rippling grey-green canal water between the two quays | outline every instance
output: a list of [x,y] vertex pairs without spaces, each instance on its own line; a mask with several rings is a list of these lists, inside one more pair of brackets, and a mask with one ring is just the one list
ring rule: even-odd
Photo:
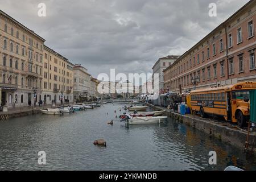
[[[122,106],[0,121],[0,169],[224,170],[233,165],[256,170],[256,160],[242,150],[171,118],[127,127],[115,118]],[[112,119],[113,126],[108,125]],[[94,146],[99,138],[106,147]],[[46,165],[38,164],[39,151],[46,152]],[[209,165],[209,151],[217,152],[217,165]]]

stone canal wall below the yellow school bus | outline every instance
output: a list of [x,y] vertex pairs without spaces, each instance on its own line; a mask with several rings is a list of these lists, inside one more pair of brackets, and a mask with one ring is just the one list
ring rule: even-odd
[[[154,106],[147,104],[154,110],[163,110],[163,107]],[[166,110],[166,109],[165,109]],[[216,122],[211,119],[201,118],[196,115],[186,114],[181,115],[179,113],[174,113],[171,110],[166,110],[166,115],[171,118],[176,119],[176,121],[183,122],[189,127],[193,127],[197,130],[204,131],[209,134],[209,137],[215,137],[222,140],[223,142],[232,144],[233,146],[244,149],[247,140],[247,131],[240,129],[238,126],[231,125],[230,123]],[[256,152],[256,133],[250,132],[249,135],[250,148]]]

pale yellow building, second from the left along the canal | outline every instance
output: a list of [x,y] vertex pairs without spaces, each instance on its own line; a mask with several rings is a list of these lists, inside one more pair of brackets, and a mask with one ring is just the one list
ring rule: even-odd
[[74,65],[47,46],[44,46],[43,60],[43,103],[72,103]]

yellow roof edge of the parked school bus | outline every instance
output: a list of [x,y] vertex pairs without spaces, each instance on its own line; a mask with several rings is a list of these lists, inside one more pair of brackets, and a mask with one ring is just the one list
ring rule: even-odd
[[207,88],[207,89],[198,89],[198,90],[192,90],[191,94],[193,93],[198,93],[198,92],[214,92],[214,91],[219,91],[219,90],[240,90],[240,89],[236,89],[236,86],[238,85],[251,85],[250,87],[243,87],[241,88],[241,90],[243,89],[256,89],[256,82],[238,82],[237,84],[233,84],[233,85],[225,85],[225,86],[219,86],[219,87],[213,87],[213,88]]

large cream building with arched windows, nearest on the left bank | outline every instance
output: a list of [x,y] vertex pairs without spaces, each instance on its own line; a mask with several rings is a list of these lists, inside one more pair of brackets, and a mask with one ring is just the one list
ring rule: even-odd
[[45,40],[0,10],[0,104],[38,104]]

